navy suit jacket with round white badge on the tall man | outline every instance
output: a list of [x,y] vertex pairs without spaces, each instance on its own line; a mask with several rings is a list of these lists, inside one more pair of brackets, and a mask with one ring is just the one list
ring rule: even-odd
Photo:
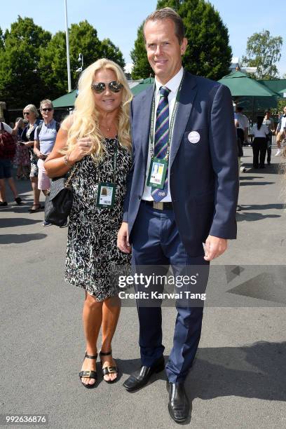
[[[144,190],[154,88],[131,103],[133,165],[123,221],[129,240]],[[197,131],[200,140],[189,142]],[[179,236],[190,256],[203,254],[210,234],[236,238],[238,151],[229,88],[185,71],[170,148],[170,193]]]

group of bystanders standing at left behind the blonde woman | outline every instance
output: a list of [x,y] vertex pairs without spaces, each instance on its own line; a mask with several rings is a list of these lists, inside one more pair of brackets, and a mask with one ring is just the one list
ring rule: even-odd
[[[43,209],[40,203],[41,191],[46,197],[50,189],[50,179],[46,175],[43,162],[53,149],[60,123],[53,118],[53,103],[43,100],[40,104],[42,120],[34,104],[23,109],[23,118],[16,118],[15,126],[1,123],[0,144],[0,207],[8,205],[6,201],[5,180],[13,192],[15,202],[20,205],[16,184],[12,175],[13,165],[17,166],[16,179],[30,179],[33,191],[33,204],[29,212]],[[13,125],[13,124],[11,124]],[[43,226],[50,223],[43,221]]]

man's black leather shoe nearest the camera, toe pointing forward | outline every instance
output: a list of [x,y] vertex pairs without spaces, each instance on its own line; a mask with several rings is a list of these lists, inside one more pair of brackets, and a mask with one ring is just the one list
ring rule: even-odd
[[182,423],[189,416],[190,404],[184,390],[184,383],[169,383],[167,381],[167,390],[169,392],[169,414],[177,423]]

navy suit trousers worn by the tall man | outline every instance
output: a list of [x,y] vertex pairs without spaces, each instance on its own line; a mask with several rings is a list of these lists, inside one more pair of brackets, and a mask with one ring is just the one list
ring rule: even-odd
[[[193,299],[193,295],[205,293],[209,275],[209,262],[198,257],[190,257],[185,250],[175,222],[172,209],[156,210],[143,201],[139,207],[137,219],[132,230],[132,266],[137,273],[153,275],[148,289],[138,286],[137,291],[163,292],[164,285],[156,279],[168,273],[172,268],[173,278],[196,278],[196,285],[180,285],[176,292],[182,292],[184,298],[168,305],[176,306],[177,318],[173,336],[173,346],[166,365],[168,379],[172,383],[184,381],[191,368],[200,341],[203,320],[203,300]],[[170,287],[168,285],[168,287]],[[169,290],[168,290],[169,292]],[[156,301],[156,302],[154,302]],[[162,301],[159,299],[137,300],[139,316],[139,346],[142,365],[152,366],[163,355],[162,343]]]

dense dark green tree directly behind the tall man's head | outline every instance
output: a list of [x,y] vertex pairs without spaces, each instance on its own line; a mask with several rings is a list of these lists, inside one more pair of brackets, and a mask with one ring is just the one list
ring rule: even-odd
[[[157,9],[167,6],[177,11],[184,22],[189,40],[183,57],[185,69],[214,80],[228,74],[232,55],[229,32],[212,4],[204,0],[158,0]],[[135,63],[132,77],[137,79],[149,76],[143,43],[141,26],[131,52]]]

